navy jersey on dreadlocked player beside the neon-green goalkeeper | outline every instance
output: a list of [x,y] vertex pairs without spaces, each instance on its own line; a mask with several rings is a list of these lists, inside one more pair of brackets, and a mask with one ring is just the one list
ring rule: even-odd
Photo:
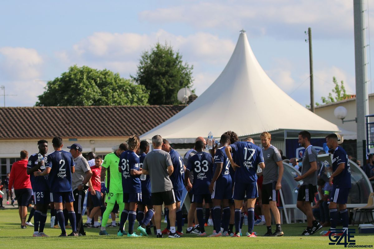
[[123,193],[141,193],[140,176],[134,177],[131,170],[140,169],[139,156],[132,150],[122,152],[119,159],[119,168],[122,169],[122,190]]

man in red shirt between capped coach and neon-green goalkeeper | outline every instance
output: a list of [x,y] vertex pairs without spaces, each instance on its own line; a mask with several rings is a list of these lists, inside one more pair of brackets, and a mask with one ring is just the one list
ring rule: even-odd
[[[100,223],[98,222],[98,217],[101,214],[101,180],[100,180],[100,174],[101,174],[101,164],[102,164],[102,159],[99,156],[96,156],[95,158],[95,165],[91,166],[91,171],[92,171],[92,177],[91,177],[91,184],[92,188],[90,187],[88,189],[89,194],[91,194],[91,200],[93,203],[93,209],[90,212],[89,217],[87,217],[87,222],[84,224],[85,227],[94,227],[94,228],[99,228]],[[92,218],[96,221],[92,225]]]

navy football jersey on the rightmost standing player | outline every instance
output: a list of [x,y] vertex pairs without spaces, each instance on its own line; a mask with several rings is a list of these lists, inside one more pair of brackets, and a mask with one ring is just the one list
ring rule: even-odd
[[339,164],[344,163],[344,169],[337,176],[334,177],[333,183],[337,188],[350,188],[351,187],[351,178],[350,178],[350,165],[348,161],[348,155],[346,151],[338,146],[334,151],[332,156],[332,170],[335,171]]

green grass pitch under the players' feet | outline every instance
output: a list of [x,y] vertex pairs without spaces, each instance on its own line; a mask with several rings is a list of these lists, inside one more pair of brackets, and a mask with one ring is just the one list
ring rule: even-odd
[[[0,248],[344,248],[342,245],[329,245],[328,237],[321,237],[319,231],[318,234],[313,236],[300,236],[299,234],[304,230],[306,224],[283,224],[282,228],[285,233],[285,236],[283,237],[259,236],[257,238],[248,238],[243,236],[240,238],[208,238],[188,234],[184,235],[181,239],[157,239],[154,235],[148,237],[127,238],[117,237],[118,228],[107,228],[108,233],[111,234],[110,236],[99,236],[99,229],[86,228],[87,236],[59,238],[57,236],[61,233],[61,230],[50,228],[49,218],[48,215],[45,233],[51,237],[32,237],[34,231],[33,227],[27,227],[27,229],[20,228],[18,210],[0,210]],[[166,224],[162,223],[162,229],[165,228],[165,226]],[[273,225],[273,229],[274,227],[275,225]],[[356,245],[374,244],[373,234],[358,234],[357,226],[350,226],[349,228],[356,228],[354,238],[356,240]],[[185,230],[186,226],[183,228],[183,231]],[[206,231],[208,234],[211,234],[212,227],[206,227]],[[246,231],[247,227],[243,226],[243,234],[245,234]],[[266,226],[255,226],[254,231],[258,234],[264,234],[266,232]],[[67,232],[70,233],[69,230],[67,230]]]

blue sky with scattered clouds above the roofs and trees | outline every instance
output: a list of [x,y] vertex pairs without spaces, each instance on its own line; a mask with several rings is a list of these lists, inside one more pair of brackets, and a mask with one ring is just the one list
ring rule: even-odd
[[[373,3],[365,1],[371,29]],[[74,64],[128,78],[157,41],[194,65],[199,95],[223,70],[242,28],[269,77],[301,105],[309,102],[308,27],[315,100],[331,91],[332,76],[355,93],[353,1],[1,1],[0,22],[0,85],[17,94],[6,97],[6,106],[33,106],[45,80]]]

